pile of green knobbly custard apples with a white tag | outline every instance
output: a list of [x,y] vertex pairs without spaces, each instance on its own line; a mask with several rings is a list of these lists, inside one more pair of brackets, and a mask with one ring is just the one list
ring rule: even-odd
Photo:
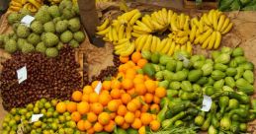
[[55,57],[64,44],[78,47],[85,38],[78,18],[78,5],[73,5],[69,0],[63,0],[59,6],[42,6],[30,27],[21,23],[26,15],[31,13],[14,12],[8,16],[8,23],[12,25],[14,33],[2,34],[0,37],[7,52],[38,51],[48,57]]

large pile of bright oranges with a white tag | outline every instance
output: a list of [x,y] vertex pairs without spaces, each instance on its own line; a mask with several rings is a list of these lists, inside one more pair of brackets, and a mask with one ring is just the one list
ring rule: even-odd
[[75,91],[72,100],[58,102],[56,110],[68,111],[77,128],[87,133],[113,132],[115,127],[137,129],[145,133],[145,126],[152,131],[160,128],[156,116],[160,110],[160,100],[166,90],[158,87],[158,82],[139,70],[147,63],[139,52],[131,57],[120,57],[123,63],[116,77],[102,82],[100,94],[94,89],[100,83],[94,81],[82,91]]

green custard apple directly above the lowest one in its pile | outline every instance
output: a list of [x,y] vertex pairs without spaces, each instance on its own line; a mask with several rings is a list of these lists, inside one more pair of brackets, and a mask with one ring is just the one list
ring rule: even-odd
[[58,36],[54,33],[45,33],[43,35],[43,43],[47,47],[57,45],[58,41],[59,41]]

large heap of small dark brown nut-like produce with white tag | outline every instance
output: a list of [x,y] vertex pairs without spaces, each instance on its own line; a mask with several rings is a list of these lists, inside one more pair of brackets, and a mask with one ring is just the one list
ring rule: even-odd
[[[2,65],[0,91],[6,110],[42,98],[69,100],[74,89],[80,87],[79,65],[71,47],[61,49],[57,58],[18,52]],[[28,79],[18,84],[16,71],[24,66]]]

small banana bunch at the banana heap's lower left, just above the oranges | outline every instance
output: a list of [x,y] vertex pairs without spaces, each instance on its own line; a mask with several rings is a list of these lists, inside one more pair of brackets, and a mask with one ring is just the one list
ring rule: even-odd
[[134,51],[135,44],[134,41],[130,42],[128,38],[123,38],[120,39],[118,42],[114,43],[114,49],[115,54],[121,56],[128,56]]

